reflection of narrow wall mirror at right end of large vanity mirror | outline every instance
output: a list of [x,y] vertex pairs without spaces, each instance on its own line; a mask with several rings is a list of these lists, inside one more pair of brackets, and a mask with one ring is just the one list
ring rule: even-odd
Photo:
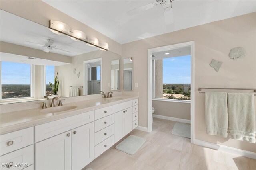
[[119,90],[119,60],[111,61],[111,90]]

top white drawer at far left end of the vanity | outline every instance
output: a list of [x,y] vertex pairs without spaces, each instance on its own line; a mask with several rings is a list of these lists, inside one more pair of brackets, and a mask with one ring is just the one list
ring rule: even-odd
[[33,127],[6,133],[0,136],[0,155],[31,145],[34,140]]

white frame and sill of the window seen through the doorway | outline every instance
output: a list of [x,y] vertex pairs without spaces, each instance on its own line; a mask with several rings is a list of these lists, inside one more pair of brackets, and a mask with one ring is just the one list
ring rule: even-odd
[[[182,57],[182,56],[179,56]],[[169,57],[172,58],[172,57]],[[191,85],[191,82],[190,82]],[[179,100],[179,99],[164,99],[164,98],[155,98],[155,59],[152,59],[152,100],[154,101],[164,101],[164,102],[179,102],[179,103],[191,103],[190,100]]]

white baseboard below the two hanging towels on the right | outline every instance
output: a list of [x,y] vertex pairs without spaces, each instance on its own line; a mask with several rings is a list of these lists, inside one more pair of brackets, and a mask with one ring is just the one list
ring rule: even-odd
[[249,152],[247,150],[227,147],[225,145],[219,145],[219,144],[215,144],[215,143],[201,141],[201,140],[198,140],[198,139],[195,139],[195,144],[203,146],[203,147],[208,147],[208,148],[221,150],[221,151],[224,151],[224,152],[228,152],[228,153],[237,154],[237,155],[240,155],[240,156],[245,156],[245,157],[248,157],[248,158],[256,159],[256,153]]

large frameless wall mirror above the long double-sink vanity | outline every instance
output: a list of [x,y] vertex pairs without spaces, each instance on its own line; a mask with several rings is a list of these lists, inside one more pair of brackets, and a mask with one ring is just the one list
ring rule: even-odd
[[[120,55],[0,10],[0,103],[120,90]],[[110,47],[111,48],[111,47]]]

